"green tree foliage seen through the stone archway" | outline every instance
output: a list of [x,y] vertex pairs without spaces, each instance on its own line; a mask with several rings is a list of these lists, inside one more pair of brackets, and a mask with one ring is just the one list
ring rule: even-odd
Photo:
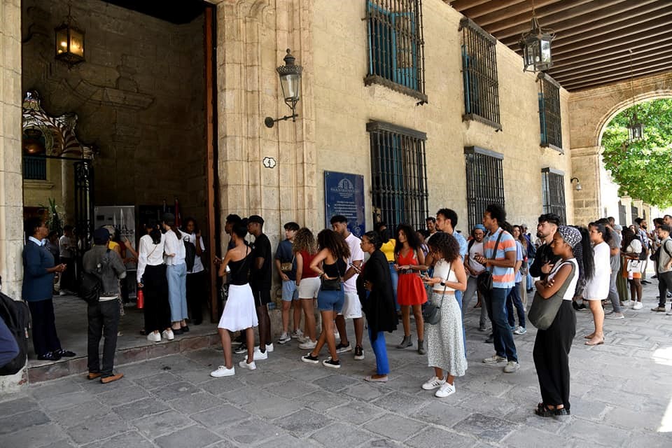
[[[633,111],[644,125],[644,137],[628,142]],[[606,169],[629,195],[657,207],[672,205],[672,99],[637,104],[615,116],[601,142]]]

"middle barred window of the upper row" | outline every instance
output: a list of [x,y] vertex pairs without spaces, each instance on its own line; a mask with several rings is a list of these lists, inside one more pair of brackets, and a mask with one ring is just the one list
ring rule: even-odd
[[501,130],[496,39],[472,20],[460,20],[462,31],[463,120],[476,120]]

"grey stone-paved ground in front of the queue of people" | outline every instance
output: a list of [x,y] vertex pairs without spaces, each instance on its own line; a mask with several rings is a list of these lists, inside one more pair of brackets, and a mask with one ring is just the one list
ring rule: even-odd
[[[125,365],[103,385],[69,377],[0,398],[0,447],[672,447],[672,316],[645,307],[605,321],[605,344],[587,347],[589,311],[577,315],[570,353],[572,415],[542,419],[532,362],[533,328],[516,336],[521,370],[480,361],[493,352],[468,311],[468,360],[457,392],[434,398],[432,371],[416,352],[393,348],[391,381],[362,381],[374,366],[342,356],[331,370],[300,361],[296,342],[275,344],[258,369],[213,379],[221,351],[201,349]],[[237,360],[241,355],[236,356]]]

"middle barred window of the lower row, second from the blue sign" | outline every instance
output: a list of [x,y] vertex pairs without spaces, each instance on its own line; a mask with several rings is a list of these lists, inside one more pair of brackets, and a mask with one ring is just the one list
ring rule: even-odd
[[504,207],[504,156],[478,146],[464,148],[467,167],[467,214],[469,228],[483,220],[488,204]]

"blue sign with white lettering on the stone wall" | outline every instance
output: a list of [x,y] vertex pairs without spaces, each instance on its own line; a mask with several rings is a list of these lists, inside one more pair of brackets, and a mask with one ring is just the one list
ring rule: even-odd
[[331,228],[331,217],[343,215],[348,229],[358,238],[366,231],[364,218],[364,176],[359,174],[324,172],[325,226]]

